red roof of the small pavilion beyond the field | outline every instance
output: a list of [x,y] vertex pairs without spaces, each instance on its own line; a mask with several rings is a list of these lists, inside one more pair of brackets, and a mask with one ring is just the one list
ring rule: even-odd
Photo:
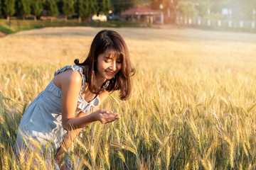
[[147,6],[137,6],[135,8],[131,8],[127,11],[122,12],[121,15],[156,14],[156,13],[159,13],[159,11],[156,11],[152,8],[147,7]]

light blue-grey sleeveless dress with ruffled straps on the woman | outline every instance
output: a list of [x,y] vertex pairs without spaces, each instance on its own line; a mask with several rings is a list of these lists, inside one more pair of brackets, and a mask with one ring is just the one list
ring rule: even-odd
[[[65,66],[55,72],[55,75],[64,72],[66,69],[73,69],[73,71],[78,71],[81,74],[82,87],[78,97],[77,111],[82,111],[88,114],[95,106],[100,105],[100,98],[97,95],[90,101],[90,103],[87,103],[87,101],[82,98],[82,91],[85,90],[85,75],[82,74],[82,67],[77,65]],[[35,148],[35,144],[34,142],[31,142],[31,140],[41,144],[40,153],[43,154],[44,147],[52,140],[46,154],[46,164],[50,166],[50,155],[57,152],[63,138],[67,134],[67,131],[64,130],[62,126],[61,96],[61,89],[55,86],[52,79],[46,89],[38,94],[38,96],[31,102],[23,114],[21,123],[18,126],[14,147],[17,154],[19,154],[21,148],[24,149],[26,146],[29,147],[29,149]],[[24,140],[26,140],[26,142],[24,142]],[[65,162],[67,168],[72,167],[72,165],[68,165],[66,160]],[[54,169],[59,169],[58,164],[55,162]]]

